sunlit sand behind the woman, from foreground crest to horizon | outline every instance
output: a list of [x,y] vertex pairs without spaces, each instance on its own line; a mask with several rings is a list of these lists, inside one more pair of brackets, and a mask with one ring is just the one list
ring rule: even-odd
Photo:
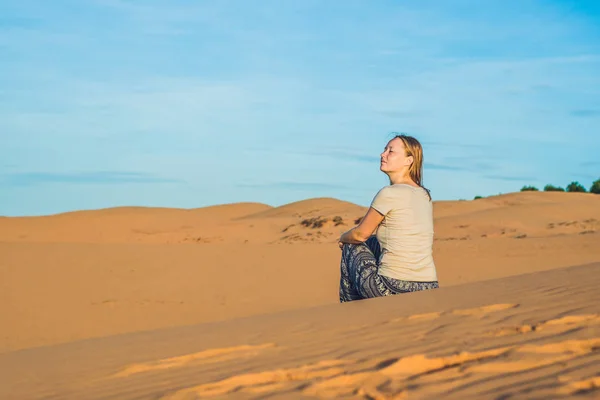
[[[600,261],[599,206],[576,193],[436,202],[440,282]],[[321,198],[4,218],[0,352],[336,303],[335,242],[364,212]]]

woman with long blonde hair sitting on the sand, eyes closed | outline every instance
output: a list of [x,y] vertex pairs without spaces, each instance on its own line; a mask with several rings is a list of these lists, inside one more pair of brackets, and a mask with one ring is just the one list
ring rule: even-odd
[[395,136],[381,153],[380,170],[390,185],[377,192],[361,222],[339,240],[342,303],[439,287],[432,255],[433,208],[421,184],[419,141]]

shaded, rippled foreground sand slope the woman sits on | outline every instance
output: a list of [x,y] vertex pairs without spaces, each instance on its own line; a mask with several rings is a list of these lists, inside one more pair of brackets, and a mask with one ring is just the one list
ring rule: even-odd
[[1,398],[597,398],[600,264],[0,355]]

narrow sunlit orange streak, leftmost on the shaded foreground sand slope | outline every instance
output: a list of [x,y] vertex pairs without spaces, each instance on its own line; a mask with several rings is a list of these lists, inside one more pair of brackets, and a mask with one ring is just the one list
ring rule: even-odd
[[257,346],[236,346],[220,349],[208,349],[198,353],[185,354],[178,357],[164,358],[161,360],[150,361],[147,363],[133,364],[123,368],[120,372],[113,375],[114,378],[125,378],[131,375],[157,371],[171,368],[181,368],[195,363],[216,363],[243,357],[258,355],[261,350],[275,347],[273,343],[266,343]]

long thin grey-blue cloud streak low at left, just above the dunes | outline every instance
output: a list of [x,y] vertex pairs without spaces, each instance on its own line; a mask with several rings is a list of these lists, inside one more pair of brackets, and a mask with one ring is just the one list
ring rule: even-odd
[[136,184],[136,183],[181,183],[179,179],[163,178],[142,172],[98,171],[79,173],[28,172],[0,175],[0,182],[10,186],[29,186],[51,183],[88,185]]

